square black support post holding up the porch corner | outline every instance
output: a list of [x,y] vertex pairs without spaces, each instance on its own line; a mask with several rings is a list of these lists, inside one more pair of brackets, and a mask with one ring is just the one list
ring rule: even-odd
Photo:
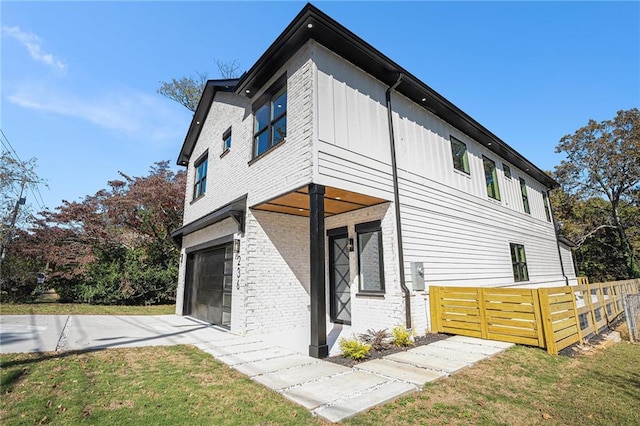
[[309,356],[326,358],[327,346],[327,303],[325,297],[324,265],[324,186],[309,184],[309,245],[310,297],[311,297],[311,344]]

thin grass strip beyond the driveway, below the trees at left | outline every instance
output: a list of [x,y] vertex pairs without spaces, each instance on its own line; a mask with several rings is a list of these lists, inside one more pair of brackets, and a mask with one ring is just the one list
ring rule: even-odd
[[119,306],[86,303],[2,303],[2,315],[167,315],[175,313],[175,305]]

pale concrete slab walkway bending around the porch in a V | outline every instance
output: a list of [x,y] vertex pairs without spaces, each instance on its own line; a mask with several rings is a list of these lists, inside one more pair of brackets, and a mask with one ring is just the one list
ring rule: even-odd
[[489,358],[511,343],[454,336],[353,368],[273,347],[259,338],[196,346],[330,422],[416,392]]

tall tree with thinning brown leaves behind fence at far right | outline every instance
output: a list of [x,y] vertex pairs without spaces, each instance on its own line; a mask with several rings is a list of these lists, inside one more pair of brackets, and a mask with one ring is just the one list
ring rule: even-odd
[[625,266],[624,277],[640,276],[635,244],[628,236],[633,222],[625,220],[638,217],[639,206],[634,200],[640,190],[640,110],[618,111],[613,120],[599,123],[589,120],[585,127],[560,139],[556,152],[567,156],[554,173],[564,192],[578,201],[591,200],[592,204],[598,197],[607,201],[608,214],[591,223],[592,229],[585,229],[585,236],[613,229]]

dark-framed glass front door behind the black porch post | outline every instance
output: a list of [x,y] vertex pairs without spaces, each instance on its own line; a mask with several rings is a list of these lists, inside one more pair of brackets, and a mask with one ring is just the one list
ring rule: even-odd
[[329,233],[329,293],[331,321],[351,324],[349,235]]

